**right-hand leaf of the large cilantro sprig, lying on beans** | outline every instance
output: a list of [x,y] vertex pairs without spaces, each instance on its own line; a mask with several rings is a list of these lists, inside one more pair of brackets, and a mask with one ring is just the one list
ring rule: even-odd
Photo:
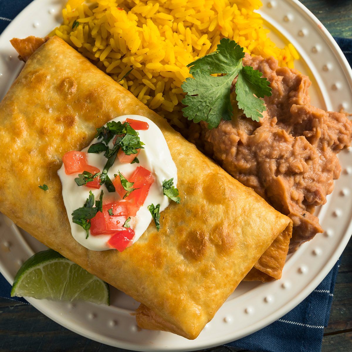
[[263,117],[261,113],[266,110],[264,101],[258,98],[271,95],[271,88],[268,87],[270,82],[261,77],[262,73],[258,70],[253,70],[251,66],[244,66],[238,73],[235,88],[238,107],[243,109],[247,117],[257,122]]

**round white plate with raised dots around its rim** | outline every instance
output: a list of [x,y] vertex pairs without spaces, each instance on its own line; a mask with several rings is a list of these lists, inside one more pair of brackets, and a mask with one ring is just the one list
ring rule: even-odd
[[[313,79],[316,106],[352,111],[352,72],[327,30],[296,0],[264,0],[260,10],[278,45],[289,40],[301,55],[296,65]],[[0,36],[0,98],[22,64],[9,39],[45,36],[60,21],[61,0],[35,0]],[[280,34],[281,33],[281,34]],[[319,211],[324,234],[300,247],[288,259],[281,280],[267,284],[242,283],[207,324],[189,341],[165,332],[139,330],[131,315],[138,303],[112,290],[110,307],[79,302],[28,299],[49,318],[90,339],[137,351],[190,351],[224,344],[248,335],[280,318],[300,303],[333,267],[352,233],[352,153],[339,155],[342,173],[335,190]],[[19,266],[44,248],[8,219],[0,226],[0,271],[12,283]]]

